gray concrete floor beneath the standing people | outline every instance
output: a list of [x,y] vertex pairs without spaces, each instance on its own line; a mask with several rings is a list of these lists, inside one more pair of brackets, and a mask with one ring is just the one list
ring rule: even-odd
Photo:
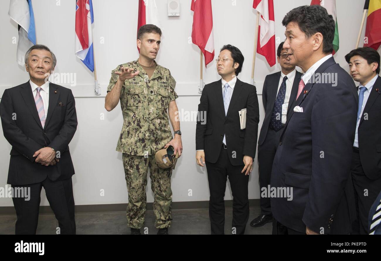
[[[250,208],[250,217],[246,226],[245,234],[271,234],[272,223],[262,227],[251,227],[250,221],[260,213],[260,208]],[[172,226],[168,229],[169,234],[210,234],[210,222],[208,210],[172,210]],[[0,216],[0,234],[14,234],[16,216]],[[75,223],[77,234],[130,234],[130,228],[126,226],[125,212],[89,213],[76,214]],[[146,212],[146,224],[148,234],[156,234],[154,226],[155,216],[153,211]],[[232,209],[225,210],[225,234],[231,234]],[[54,215],[40,215],[38,219],[37,234],[56,234],[58,221]],[[144,229],[141,229],[144,233]]]

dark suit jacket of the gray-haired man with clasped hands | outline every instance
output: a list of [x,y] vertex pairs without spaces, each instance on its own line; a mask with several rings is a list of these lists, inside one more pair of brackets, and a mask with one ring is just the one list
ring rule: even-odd
[[[77,130],[77,114],[70,89],[49,84],[49,106],[44,128],[29,81],[4,91],[0,117],[4,136],[12,145],[8,184],[39,183],[47,176],[56,181],[74,175],[68,144]],[[56,165],[46,167],[35,162],[33,154],[42,147],[52,147],[60,152],[61,158]]]

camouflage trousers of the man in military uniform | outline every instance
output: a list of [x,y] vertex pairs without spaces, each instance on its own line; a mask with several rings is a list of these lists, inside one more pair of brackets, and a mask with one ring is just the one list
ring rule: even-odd
[[155,155],[135,156],[123,153],[124,171],[128,190],[127,225],[140,229],[144,225],[147,209],[147,172],[154,192],[155,227],[170,227],[172,223],[171,176],[172,168],[158,167]]

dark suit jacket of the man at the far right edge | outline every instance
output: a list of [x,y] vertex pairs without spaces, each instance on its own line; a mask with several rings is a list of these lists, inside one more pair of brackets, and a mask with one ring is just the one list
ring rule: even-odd
[[[364,115],[364,114],[367,115]],[[361,165],[370,179],[381,178],[381,77],[375,84],[365,104],[359,129],[359,151]]]

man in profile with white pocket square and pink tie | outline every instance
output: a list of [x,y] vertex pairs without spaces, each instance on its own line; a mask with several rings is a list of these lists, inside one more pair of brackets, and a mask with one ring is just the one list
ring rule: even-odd
[[305,73],[272,166],[273,233],[348,234],[358,96],[331,54],[335,21],[324,7],[312,5],[294,8],[282,24],[283,48]]

